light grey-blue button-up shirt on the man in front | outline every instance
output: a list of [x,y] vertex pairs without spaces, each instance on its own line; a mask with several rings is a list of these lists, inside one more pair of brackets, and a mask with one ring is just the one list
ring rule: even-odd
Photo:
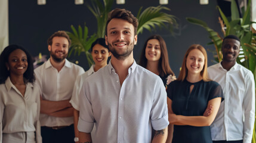
[[135,61],[122,86],[110,61],[87,77],[80,96],[78,130],[89,133],[95,122],[93,142],[151,142],[152,127],[169,124],[162,80]]

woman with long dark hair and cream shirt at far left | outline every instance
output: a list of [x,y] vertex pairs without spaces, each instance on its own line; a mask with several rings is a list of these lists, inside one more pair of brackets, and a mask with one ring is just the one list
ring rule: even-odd
[[7,46],[0,55],[0,142],[42,142],[40,92],[26,49]]

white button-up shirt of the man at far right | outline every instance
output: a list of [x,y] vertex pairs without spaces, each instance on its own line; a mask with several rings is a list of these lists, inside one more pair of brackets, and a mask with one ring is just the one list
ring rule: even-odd
[[251,143],[255,120],[255,83],[251,71],[236,63],[229,71],[221,63],[208,67],[212,80],[221,85],[224,102],[211,125],[212,140]]

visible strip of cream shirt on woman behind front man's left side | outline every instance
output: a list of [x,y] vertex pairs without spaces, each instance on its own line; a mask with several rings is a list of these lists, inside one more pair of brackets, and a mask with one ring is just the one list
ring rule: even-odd
[[87,70],[85,73],[81,74],[76,78],[76,82],[73,88],[73,94],[69,102],[72,104],[73,108],[75,108],[78,111],[80,110],[79,100],[81,98],[79,98],[79,93],[81,91],[82,84],[88,76],[91,76],[92,73],[95,73],[94,66],[95,65],[92,65],[89,70]]

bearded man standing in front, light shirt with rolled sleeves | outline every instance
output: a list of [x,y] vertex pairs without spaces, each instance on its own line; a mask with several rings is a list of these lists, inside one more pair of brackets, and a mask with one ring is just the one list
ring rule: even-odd
[[[132,51],[137,27],[137,18],[130,11],[116,8],[109,13],[105,39],[112,57],[82,86],[79,142],[166,141],[165,87],[159,76],[135,63]],[[156,130],[153,141],[152,128]]]

